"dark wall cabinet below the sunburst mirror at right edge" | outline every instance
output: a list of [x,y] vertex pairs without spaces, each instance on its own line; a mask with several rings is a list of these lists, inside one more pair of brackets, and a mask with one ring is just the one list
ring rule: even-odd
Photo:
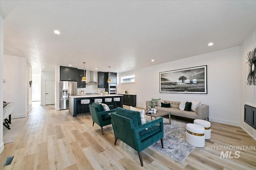
[[256,107],[244,105],[244,122],[256,129]]

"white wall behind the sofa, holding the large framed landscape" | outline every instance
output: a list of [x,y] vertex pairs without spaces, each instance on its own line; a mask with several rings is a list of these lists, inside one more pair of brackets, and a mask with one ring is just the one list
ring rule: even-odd
[[[120,84],[118,91],[129,89],[137,92],[137,107],[144,107],[146,100],[162,98],[170,101],[201,101],[208,104],[209,120],[240,126],[240,47],[232,47],[178,61],[159,64],[120,73],[135,74],[134,84]],[[208,94],[160,93],[159,72],[207,65]]]

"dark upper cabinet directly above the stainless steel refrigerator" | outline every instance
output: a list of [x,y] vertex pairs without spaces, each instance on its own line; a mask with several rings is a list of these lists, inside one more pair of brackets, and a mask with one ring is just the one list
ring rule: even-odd
[[77,68],[60,66],[60,81],[77,81]]

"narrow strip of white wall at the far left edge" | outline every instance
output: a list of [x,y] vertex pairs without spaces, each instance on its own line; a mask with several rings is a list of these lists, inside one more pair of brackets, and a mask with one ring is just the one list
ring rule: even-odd
[[[3,102],[3,61],[4,61],[4,19],[0,16],[0,103]],[[0,120],[3,119],[3,105],[0,105]],[[3,123],[0,123],[0,153],[4,150]]]

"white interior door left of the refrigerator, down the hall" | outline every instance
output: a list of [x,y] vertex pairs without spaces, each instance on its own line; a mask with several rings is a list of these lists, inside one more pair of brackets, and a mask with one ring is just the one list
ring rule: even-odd
[[45,80],[45,104],[55,104],[54,80]]

